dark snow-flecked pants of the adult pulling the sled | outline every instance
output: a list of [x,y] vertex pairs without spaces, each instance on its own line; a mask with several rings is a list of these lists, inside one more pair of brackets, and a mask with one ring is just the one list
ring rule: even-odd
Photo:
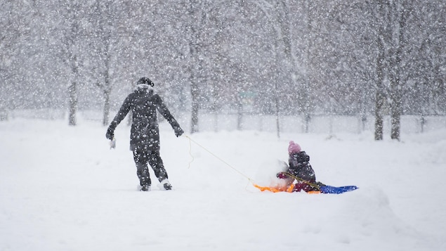
[[152,184],[147,163],[152,167],[158,181],[163,181],[168,178],[163,161],[159,156],[159,149],[150,150],[147,146],[136,146],[133,149],[133,160],[135,160],[136,174],[138,175],[141,186],[143,184],[149,186]]

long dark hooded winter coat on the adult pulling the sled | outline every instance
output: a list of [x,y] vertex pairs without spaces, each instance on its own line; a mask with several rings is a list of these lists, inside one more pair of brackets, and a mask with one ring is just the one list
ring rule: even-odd
[[130,131],[130,148],[148,146],[149,150],[159,150],[159,128],[157,110],[171,124],[178,136],[183,133],[178,122],[166,108],[162,98],[147,86],[138,86],[135,91],[122,104],[119,112],[110,123],[109,129],[114,129],[124,120],[127,113],[132,111],[132,124]]

